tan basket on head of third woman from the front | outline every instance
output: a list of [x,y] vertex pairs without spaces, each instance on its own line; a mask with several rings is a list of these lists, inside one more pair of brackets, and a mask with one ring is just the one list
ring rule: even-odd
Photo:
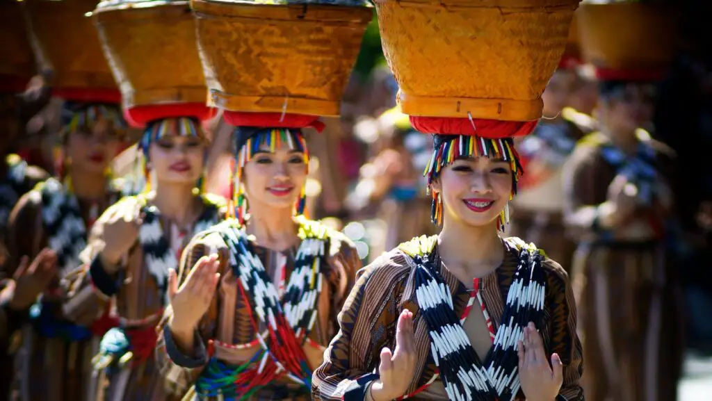
[[206,101],[188,1],[100,6],[94,21],[124,107]]

